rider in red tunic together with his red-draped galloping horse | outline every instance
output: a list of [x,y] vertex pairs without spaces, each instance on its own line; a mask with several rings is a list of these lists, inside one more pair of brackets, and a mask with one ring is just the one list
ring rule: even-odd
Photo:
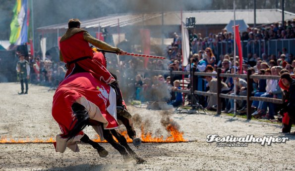
[[[59,123],[59,127],[62,131],[62,134],[57,136],[59,146],[57,147],[57,144],[55,144],[56,150],[63,152],[65,147],[69,147],[73,151],[78,151],[74,141],[81,140],[82,142],[91,144],[97,149],[101,157],[106,157],[108,152],[98,143],[90,140],[90,138],[81,131],[85,126],[91,125],[100,136],[105,136],[108,142],[112,141],[110,143],[119,150],[123,156],[127,156],[125,150],[118,146],[116,142],[113,142],[113,137],[111,135],[114,135],[118,139],[119,143],[127,149],[130,155],[133,155],[133,158],[139,160],[140,158],[127,147],[128,145],[126,144],[125,138],[114,129],[118,127],[118,117],[118,120],[126,127],[129,137],[133,139],[133,144],[135,146],[141,144],[141,140],[136,138],[136,133],[130,123],[131,115],[126,110],[116,76],[112,75],[106,69],[106,65],[102,64],[103,62],[100,62],[102,53],[93,53],[89,43],[100,49],[116,51],[119,55],[124,55],[126,52],[93,38],[87,31],[80,29],[80,24],[81,22],[78,19],[70,19],[68,22],[68,30],[61,37],[59,42],[59,59],[66,63],[67,72],[65,80],[59,85],[54,96],[53,116]],[[83,73],[90,73],[90,75]],[[81,77],[81,79],[79,77]],[[79,84],[75,80],[82,81],[83,83]],[[99,86],[93,87],[92,83],[96,83]],[[81,90],[85,86],[87,88]],[[98,91],[96,91],[96,89]],[[102,101],[104,103],[96,102],[95,98],[93,98],[94,100],[89,100],[83,96],[87,96],[87,94],[91,94],[92,92],[99,92],[97,95],[100,99],[103,99]],[[90,99],[92,98],[91,95],[88,95],[88,97]],[[68,111],[71,110],[72,114],[71,116],[68,115],[68,118],[65,119],[65,116],[60,116],[62,112],[59,111],[59,109],[63,107],[62,104],[66,105],[66,103],[70,103],[68,106],[70,106],[71,109],[68,108],[64,110],[64,113],[69,113]],[[117,104],[117,107],[114,107],[113,104]],[[114,110],[117,111],[114,112]],[[64,120],[67,121],[65,122]],[[99,130],[97,126],[102,126],[103,129]],[[107,129],[111,131],[107,131]],[[65,139],[66,142],[64,141]],[[104,137],[101,137],[101,139],[104,139]],[[69,143],[69,140],[71,140],[70,142],[73,142],[73,144]]]

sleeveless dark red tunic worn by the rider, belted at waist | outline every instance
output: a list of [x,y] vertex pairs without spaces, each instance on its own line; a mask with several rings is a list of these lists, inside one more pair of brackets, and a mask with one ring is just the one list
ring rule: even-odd
[[[76,63],[85,71],[91,73],[98,80],[102,80],[107,84],[114,82],[115,78],[106,69],[106,67],[97,60],[93,59],[92,49],[90,48],[89,43],[84,40],[83,34],[84,32],[78,32],[70,38],[59,43],[63,61],[66,63],[81,57],[89,56],[90,58],[80,60]],[[65,78],[71,74],[75,67],[75,63],[72,63],[67,67],[68,70],[65,74]]]

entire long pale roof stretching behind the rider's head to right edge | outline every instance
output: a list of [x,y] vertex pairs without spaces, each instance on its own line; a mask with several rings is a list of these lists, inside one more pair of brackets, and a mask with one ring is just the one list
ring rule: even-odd
[[[195,17],[197,25],[227,25],[231,20],[234,20],[234,10],[198,10],[198,11],[183,11],[182,21],[185,23],[185,18]],[[285,20],[295,18],[295,13],[284,11]],[[180,25],[180,11],[171,11],[164,13],[164,25]],[[254,24],[253,9],[237,9],[236,20],[244,20],[246,24]],[[281,9],[256,9],[256,24],[271,24],[282,20]],[[120,27],[127,25],[162,25],[162,13],[147,13],[147,14],[113,14],[105,17],[95,18],[91,20],[81,21],[81,28],[97,28],[97,27],[117,27],[118,22]],[[37,28],[38,31],[67,29],[67,23],[50,25]]]

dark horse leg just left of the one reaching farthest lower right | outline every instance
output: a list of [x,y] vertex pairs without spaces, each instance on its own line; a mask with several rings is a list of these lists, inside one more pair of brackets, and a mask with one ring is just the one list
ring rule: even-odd
[[126,149],[120,145],[118,142],[116,142],[113,138],[113,135],[111,133],[110,130],[108,129],[103,129],[103,133],[104,133],[104,138],[116,149],[118,150],[118,152],[123,156],[123,159],[125,162],[129,162],[130,161],[130,155],[128,154],[128,152],[126,151]]

